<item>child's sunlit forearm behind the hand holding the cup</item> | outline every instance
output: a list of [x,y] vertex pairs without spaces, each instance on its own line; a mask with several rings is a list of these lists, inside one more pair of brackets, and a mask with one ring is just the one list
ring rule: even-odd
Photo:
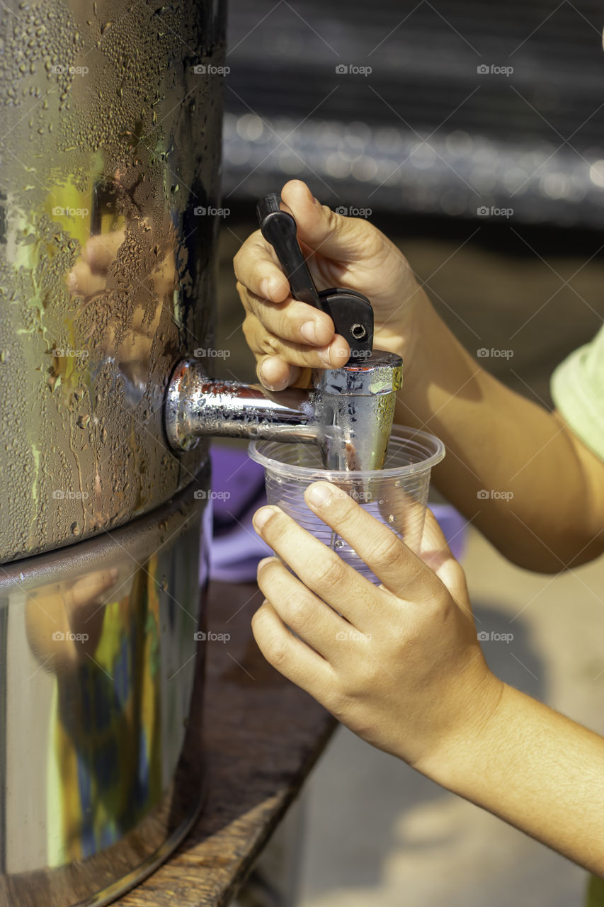
[[504,686],[480,740],[415,767],[604,876],[604,740],[586,727]]

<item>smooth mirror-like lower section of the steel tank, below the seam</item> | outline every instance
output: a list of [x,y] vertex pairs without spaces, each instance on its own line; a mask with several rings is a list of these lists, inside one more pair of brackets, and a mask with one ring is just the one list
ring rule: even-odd
[[160,510],[0,574],[7,907],[109,902],[199,810],[208,482],[204,468]]

